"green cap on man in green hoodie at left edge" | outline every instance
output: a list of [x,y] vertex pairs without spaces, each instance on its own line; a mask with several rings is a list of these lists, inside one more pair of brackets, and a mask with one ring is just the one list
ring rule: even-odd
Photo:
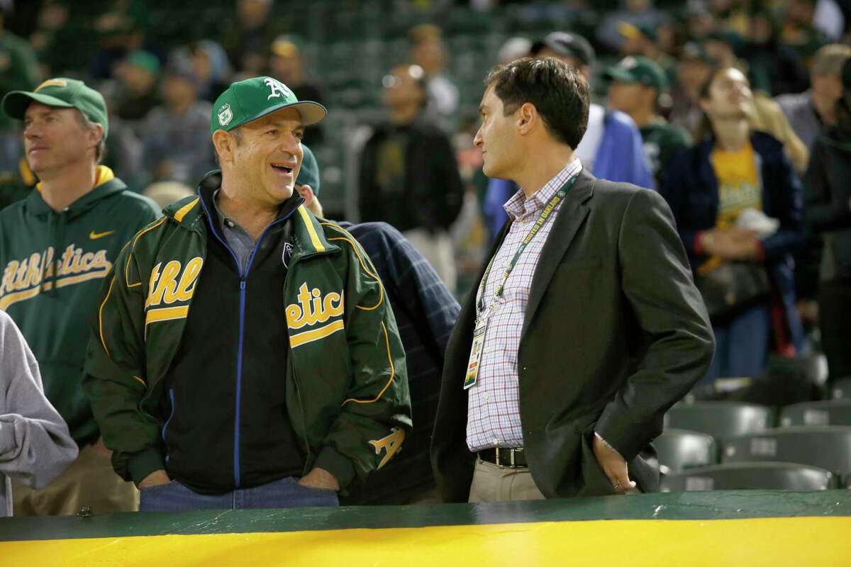
[[3,97],[3,113],[9,118],[23,120],[26,109],[35,100],[43,105],[58,108],[76,108],[95,124],[104,128],[104,139],[109,131],[106,102],[103,96],[89,88],[83,81],[55,77],[38,85],[32,92],[12,91]]

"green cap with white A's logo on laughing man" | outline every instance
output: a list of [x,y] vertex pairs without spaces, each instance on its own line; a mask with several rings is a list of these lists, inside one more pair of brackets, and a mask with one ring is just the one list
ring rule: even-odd
[[234,82],[219,95],[213,105],[210,133],[216,130],[230,131],[289,107],[299,111],[304,126],[322,122],[328,114],[323,105],[312,100],[297,99],[287,85],[272,77],[253,77]]

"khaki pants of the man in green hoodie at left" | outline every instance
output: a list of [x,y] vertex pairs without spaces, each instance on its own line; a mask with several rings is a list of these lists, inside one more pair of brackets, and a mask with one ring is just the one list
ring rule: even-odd
[[139,491],[112,470],[109,454],[86,445],[80,456],[42,490],[12,482],[14,516],[67,516],[88,506],[92,513],[136,512]]

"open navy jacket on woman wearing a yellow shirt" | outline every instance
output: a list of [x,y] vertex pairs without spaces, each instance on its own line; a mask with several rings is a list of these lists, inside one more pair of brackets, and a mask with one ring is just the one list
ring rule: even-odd
[[[692,269],[707,258],[694,251],[703,230],[715,228],[718,180],[710,161],[713,139],[705,139],[671,161],[660,193],[677,220],[677,229]],[[792,252],[803,246],[802,188],[783,145],[767,133],[751,133],[759,159],[762,211],[780,220],[780,229],[762,241],[765,265],[785,309],[787,330],[798,352],[803,348],[803,328],[795,309],[795,272]]]

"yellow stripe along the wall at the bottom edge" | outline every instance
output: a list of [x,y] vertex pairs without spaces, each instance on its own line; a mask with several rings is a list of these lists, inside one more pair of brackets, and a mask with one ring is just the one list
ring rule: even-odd
[[[631,496],[619,496],[629,498]],[[3,564],[848,565],[848,518],[595,520],[0,542]],[[613,537],[617,544],[613,545]],[[565,558],[569,558],[566,562]]]

